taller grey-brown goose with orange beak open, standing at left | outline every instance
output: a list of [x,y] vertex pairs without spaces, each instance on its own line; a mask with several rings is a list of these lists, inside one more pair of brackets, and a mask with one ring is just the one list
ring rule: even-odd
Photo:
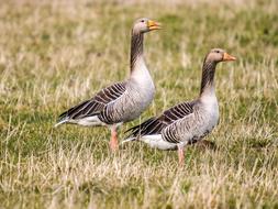
[[64,123],[86,127],[109,127],[110,147],[118,150],[118,128],[140,117],[155,95],[155,86],[143,56],[144,33],[160,29],[160,23],[147,18],[134,22],[131,36],[130,77],[115,82],[63,112],[54,125]]

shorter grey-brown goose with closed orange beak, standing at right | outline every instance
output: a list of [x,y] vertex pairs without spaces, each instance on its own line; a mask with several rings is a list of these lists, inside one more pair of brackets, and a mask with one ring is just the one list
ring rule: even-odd
[[235,61],[224,50],[213,48],[202,66],[199,97],[179,103],[160,116],[127,130],[122,143],[138,140],[159,150],[178,150],[179,164],[184,162],[184,147],[208,135],[219,121],[219,105],[214,90],[214,73],[218,63]]

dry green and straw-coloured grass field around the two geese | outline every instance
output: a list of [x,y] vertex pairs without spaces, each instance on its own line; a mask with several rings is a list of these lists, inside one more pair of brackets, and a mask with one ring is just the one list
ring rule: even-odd
[[[278,1],[1,1],[0,208],[278,208]],[[129,75],[130,32],[149,16],[145,58],[156,98],[124,131],[199,92],[212,47],[220,64],[218,148],[131,143],[57,116]]]

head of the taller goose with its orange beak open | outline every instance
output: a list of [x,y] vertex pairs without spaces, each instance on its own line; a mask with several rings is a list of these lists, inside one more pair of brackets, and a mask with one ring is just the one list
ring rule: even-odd
[[142,18],[134,22],[132,31],[133,33],[146,33],[158,29],[162,29],[160,23],[147,18]]

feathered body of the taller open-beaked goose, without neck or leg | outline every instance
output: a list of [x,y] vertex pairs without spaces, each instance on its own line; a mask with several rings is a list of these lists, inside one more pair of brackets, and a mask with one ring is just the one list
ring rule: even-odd
[[140,117],[154,99],[155,86],[144,61],[134,72],[137,75],[126,81],[107,87],[92,99],[62,113],[56,127],[66,122],[86,127],[121,124]]

